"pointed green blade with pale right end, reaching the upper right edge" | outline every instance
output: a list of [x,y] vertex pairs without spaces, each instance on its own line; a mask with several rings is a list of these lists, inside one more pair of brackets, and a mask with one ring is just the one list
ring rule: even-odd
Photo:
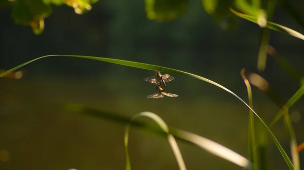
[[[248,20],[248,21],[251,21],[251,22],[254,22],[254,23],[258,24],[258,18],[257,17],[253,17],[253,16],[250,16],[250,15],[246,15],[246,14],[242,14],[242,13],[236,12],[232,8],[230,8],[230,11],[232,13],[234,13],[235,15],[237,15],[237,16],[245,19],[245,20]],[[296,32],[296,31],[294,31],[294,30],[292,30],[290,28],[287,28],[287,27],[285,27],[283,25],[267,21],[266,27],[270,28],[272,30],[283,32],[283,33],[286,33],[286,34],[289,34],[291,36],[294,36],[294,37],[297,37],[297,38],[300,38],[300,39],[304,40],[304,35],[302,35],[299,32]]]

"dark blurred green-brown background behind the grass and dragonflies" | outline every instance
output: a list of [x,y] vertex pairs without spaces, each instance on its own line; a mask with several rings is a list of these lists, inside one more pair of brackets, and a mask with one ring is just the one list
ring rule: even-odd
[[[294,1],[304,5],[301,1]],[[237,19],[226,29],[190,1],[184,16],[169,22],[146,19],[143,1],[100,1],[77,15],[66,6],[54,7],[41,35],[17,26],[10,9],[1,9],[0,69],[10,69],[47,54],[102,56],[155,64],[211,79],[247,101],[242,68],[256,72],[261,29]],[[280,8],[274,22],[303,32]],[[271,32],[270,44],[300,72],[304,71],[303,42]],[[207,137],[247,157],[248,108],[231,94],[191,77],[172,75],[169,93],[179,97],[148,99],[153,76],[146,71],[104,62],[54,56],[23,67],[21,79],[0,79],[0,149],[10,152],[0,169],[124,169],[124,126],[65,112],[58,103],[75,102],[133,116],[153,111],[170,126]],[[165,73],[163,73],[165,74]],[[260,74],[288,99],[298,85],[273,60]],[[266,122],[279,107],[253,88],[254,108]],[[290,110],[299,143],[304,141],[303,100]],[[274,134],[289,154],[283,121]],[[272,140],[270,169],[288,169]],[[188,169],[240,169],[194,146],[180,143]],[[133,169],[177,169],[164,138],[134,130],[130,136]],[[300,153],[300,157],[303,153]],[[304,163],[303,160],[301,160]]]

